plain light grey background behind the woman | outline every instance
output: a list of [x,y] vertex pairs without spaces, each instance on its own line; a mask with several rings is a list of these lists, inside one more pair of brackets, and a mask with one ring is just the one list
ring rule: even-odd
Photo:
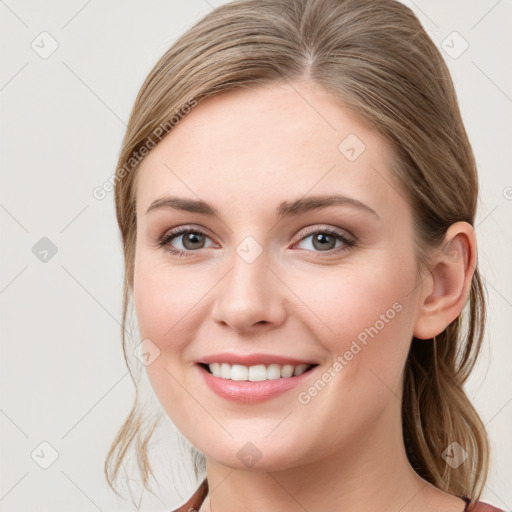
[[[98,200],[92,191],[114,171],[147,73],[220,3],[0,1],[2,511],[134,510],[103,478],[133,386],[120,346],[123,266],[113,195]],[[511,510],[512,4],[405,3],[444,48],[479,166],[476,232],[489,327],[467,390],[492,442],[483,499]],[[468,48],[454,58],[464,41]],[[45,55],[52,44],[58,48]],[[157,436],[160,499],[144,494],[140,510],[172,510],[195,489],[174,430],[169,422]],[[43,469],[52,450],[58,457]]]

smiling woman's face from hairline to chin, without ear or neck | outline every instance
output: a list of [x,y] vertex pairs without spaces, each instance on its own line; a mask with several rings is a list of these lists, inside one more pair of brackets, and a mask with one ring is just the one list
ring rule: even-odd
[[207,457],[277,470],[400,432],[419,288],[391,156],[377,131],[301,82],[199,103],[141,163],[146,369]]

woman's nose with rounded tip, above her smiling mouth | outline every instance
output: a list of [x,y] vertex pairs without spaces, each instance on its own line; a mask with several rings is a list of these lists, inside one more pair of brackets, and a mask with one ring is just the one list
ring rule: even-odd
[[287,287],[269,260],[265,251],[252,262],[234,252],[229,271],[215,287],[215,322],[249,333],[285,321]]

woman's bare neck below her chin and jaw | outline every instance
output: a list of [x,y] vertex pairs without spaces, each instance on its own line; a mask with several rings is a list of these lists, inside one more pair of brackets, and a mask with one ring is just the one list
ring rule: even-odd
[[233,469],[207,457],[209,495],[201,512],[430,510],[442,491],[413,470],[401,426],[389,420],[314,462],[276,471]]

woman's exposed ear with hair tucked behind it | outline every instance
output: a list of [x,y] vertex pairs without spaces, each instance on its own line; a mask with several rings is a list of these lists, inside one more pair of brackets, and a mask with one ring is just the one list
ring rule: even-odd
[[456,222],[446,231],[435,253],[432,270],[423,281],[413,335],[430,339],[443,332],[466,304],[476,267],[473,226]]

